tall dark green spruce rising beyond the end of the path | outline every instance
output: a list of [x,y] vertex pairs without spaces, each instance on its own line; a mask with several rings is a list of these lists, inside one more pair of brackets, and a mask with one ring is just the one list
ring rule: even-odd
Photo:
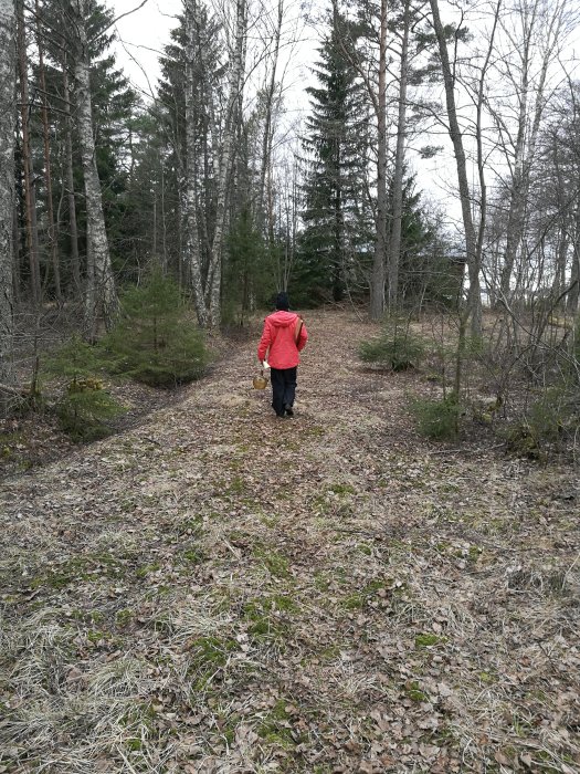
[[[339,40],[347,21],[334,14],[315,69],[319,85],[307,88],[312,114],[303,145],[307,160],[296,281],[314,296],[340,301],[349,275],[371,239],[366,211],[367,125],[361,88]],[[315,300],[315,299],[310,299]]]

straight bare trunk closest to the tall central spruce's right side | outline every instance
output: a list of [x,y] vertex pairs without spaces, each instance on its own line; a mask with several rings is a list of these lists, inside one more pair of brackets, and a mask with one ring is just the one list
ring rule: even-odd
[[379,94],[377,100],[377,233],[370,283],[370,317],[380,320],[384,312],[387,262],[387,18],[388,3],[381,0],[379,33]]

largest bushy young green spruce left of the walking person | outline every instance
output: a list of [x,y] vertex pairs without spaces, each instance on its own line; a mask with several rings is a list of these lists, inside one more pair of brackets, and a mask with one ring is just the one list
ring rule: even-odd
[[144,285],[125,293],[122,310],[103,341],[115,373],[164,388],[203,375],[207,348],[172,280],[154,271]]

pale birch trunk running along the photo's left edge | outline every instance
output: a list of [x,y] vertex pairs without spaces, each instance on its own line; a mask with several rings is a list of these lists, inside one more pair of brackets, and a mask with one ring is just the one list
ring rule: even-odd
[[[14,125],[15,125],[14,0],[0,0],[0,384],[12,383],[13,311],[13,217]],[[0,389],[0,407],[7,407]]]

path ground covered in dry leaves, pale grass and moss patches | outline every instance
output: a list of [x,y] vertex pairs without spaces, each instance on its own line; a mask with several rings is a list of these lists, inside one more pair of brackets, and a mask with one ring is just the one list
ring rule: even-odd
[[3,480],[0,772],[580,772],[578,470],[425,441],[306,322],[293,419],[249,338]]

